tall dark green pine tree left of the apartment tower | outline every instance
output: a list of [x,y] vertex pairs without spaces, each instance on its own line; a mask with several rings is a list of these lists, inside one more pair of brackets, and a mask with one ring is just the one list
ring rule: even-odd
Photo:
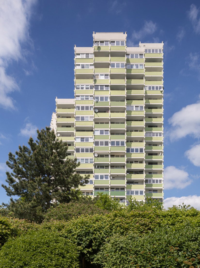
[[8,186],[2,187],[11,198],[4,205],[15,217],[41,222],[55,203],[77,199],[77,188],[87,183],[88,177],[76,173],[80,163],[67,157],[68,146],[57,140],[49,127],[37,130],[36,141],[30,137],[28,145],[19,145],[15,154],[9,152],[6,164],[11,172],[6,172]]

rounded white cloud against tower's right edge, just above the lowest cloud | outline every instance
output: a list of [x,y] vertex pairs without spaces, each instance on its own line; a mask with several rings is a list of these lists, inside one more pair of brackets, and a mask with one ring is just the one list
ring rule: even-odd
[[185,170],[175,166],[168,166],[164,169],[164,189],[183,189],[191,183],[192,180]]

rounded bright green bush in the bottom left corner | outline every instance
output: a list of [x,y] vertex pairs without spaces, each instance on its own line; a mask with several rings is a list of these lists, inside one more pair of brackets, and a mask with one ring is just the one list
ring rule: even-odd
[[78,268],[76,245],[48,230],[10,239],[0,251],[0,268]]

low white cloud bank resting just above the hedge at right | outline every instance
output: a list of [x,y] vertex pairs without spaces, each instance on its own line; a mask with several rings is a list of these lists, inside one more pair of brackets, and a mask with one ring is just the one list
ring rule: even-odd
[[190,205],[195,209],[200,210],[200,196],[197,195],[189,195],[189,196],[181,196],[181,197],[168,197],[164,199],[164,208],[167,209],[168,207],[172,207],[173,205]]

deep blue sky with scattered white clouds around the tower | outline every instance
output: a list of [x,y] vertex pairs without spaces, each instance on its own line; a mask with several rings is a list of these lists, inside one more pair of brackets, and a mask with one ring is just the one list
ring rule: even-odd
[[[165,206],[200,209],[199,1],[2,0],[0,181],[9,151],[50,124],[55,97],[74,97],[74,44],[125,32],[127,44],[164,41]],[[0,203],[7,202],[0,188]]]

